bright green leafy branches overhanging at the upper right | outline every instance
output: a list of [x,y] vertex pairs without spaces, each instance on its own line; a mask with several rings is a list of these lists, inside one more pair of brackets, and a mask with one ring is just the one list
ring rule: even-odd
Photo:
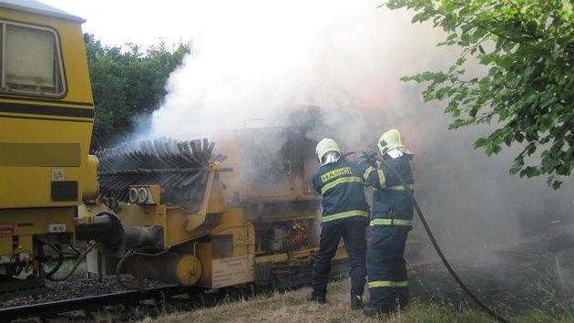
[[[548,175],[558,189],[574,169],[574,13],[571,0],[388,0],[446,32],[439,46],[460,47],[446,71],[403,80],[427,84],[425,101],[445,100],[450,129],[496,122],[478,138],[487,155],[520,145],[510,172]],[[470,58],[470,59],[469,59]],[[484,66],[472,75],[470,62]]]

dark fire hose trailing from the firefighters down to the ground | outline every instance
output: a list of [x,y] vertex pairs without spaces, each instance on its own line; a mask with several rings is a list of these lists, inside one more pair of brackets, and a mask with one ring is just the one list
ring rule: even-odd
[[[354,152],[347,152],[345,155],[348,155],[351,153],[354,153]],[[369,153],[369,152],[367,152],[367,153]],[[418,206],[418,203],[416,203],[413,190],[410,190],[408,188],[408,185],[405,183],[405,180],[401,177],[401,175],[398,172],[396,172],[396,170],[388,162],[385,162],[384,160],[381,160],[381,159],[378,159],[378,161],[383,162],[384,165],[387,166],[389,168],[389,170],[391,170],[391,172],[393,172],[396,175],[396,177],[399,179],[399,181],[401,182],[401,184],[403,185],[405,190],[407,192],[410,192],[409,197],[410,197],[411,201],[413,202],[413,205],[415,205],[416,214],[418,214],[418,217],[420,218],[421,223],[423,224],[423,227],[425,228],[426,234],[428,235],[429,239],[431,240],[431,243],[435,247],[436,254],[440,257],[440,260],[446,266],[446,270],[448,271],[450,276],[452,276],[455,279],[456,284],[458,284],[458,286],[466,293],[466,295],[468,297],[470,297],[473,301],[475,301],[475,303],[477,303],[477,305],[479,307],[484,309],[488,313],[488,315],[490,315],[492,318],[497,320],[497,322],[509,323],[509,321],[506,318],[501,317],[495,310],[493,310],[490,307],[487,307],[487,305],[485,303],[483,303],[480,299],[478,299],[478,297],[476,295],[474,295],[468,287],[466,287],[466,285],[463,283],[463,281],[460,279],[460,277],[458,277],[458,275],[456,275],[455,270],[452,268],[452,266],[450,266],[450,264],[448,263],[448,260],[446,260],[445,255],[443,254],[442,250],[440,249],[440,246],[436,242],[435,235],[432,233],[430,227],[426,223],[425,215],[421,211],[421,208]]]

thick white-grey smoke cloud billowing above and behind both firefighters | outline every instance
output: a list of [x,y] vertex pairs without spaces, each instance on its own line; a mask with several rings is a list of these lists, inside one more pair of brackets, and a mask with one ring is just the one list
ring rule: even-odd
[[516,149],[493,158],[473,150],[472,141],[490,129],[447,130],[444,106],[423,103],[422,87],[398,79],[449,66],[456,49],[436,47],[440,30],[412,25],[410,13],[377,5],[190,4],[192,52],[169,78],[152,136],[209,136],[279,123],[290,107],[319,106],[347,150],[375,149],[391,127],[403,132],[416,153],[416,196],[446,255],[572,225],[571,178],[555,192],[544,179],[509,175]]

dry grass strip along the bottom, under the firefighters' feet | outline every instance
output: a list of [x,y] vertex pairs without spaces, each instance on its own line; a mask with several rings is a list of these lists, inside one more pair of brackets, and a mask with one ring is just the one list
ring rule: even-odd
[[[327,304],[318,305],[306,301],[310,287],[285,293],[251,297],[249,300],[226,301],[217,307],[200,308],[184,313],[166,313],[159,318],[145,318],[139,323],[166,322],[387,322],[387,323],[491,323],[495,322],[486,313],[441,305],[424,303],[413,299],[407,309],[376,318],[366,318],[360,310],[352,311],[349,305],[349,280],[330,283]],[[368,301],[368,292],[365,293]],[[166,310],[169,312],[169,310]],[[566,323],[574,322],[574,312],[567,311],[561,317],[550,317],[542,310],[534,309],[515,317],[506,317],[510,322],[520,323]]]

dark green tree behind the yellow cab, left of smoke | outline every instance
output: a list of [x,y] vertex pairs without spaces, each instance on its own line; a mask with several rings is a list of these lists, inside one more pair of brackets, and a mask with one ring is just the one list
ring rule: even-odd
[[126,139],[136,119],[159,108],[166,94],[169,74],[190,52],[187,45],[168,48],[160,43],[145,53],[137,45],[104,47],[93,35],[85,35],[87,64],[96,106],[91,150]]

